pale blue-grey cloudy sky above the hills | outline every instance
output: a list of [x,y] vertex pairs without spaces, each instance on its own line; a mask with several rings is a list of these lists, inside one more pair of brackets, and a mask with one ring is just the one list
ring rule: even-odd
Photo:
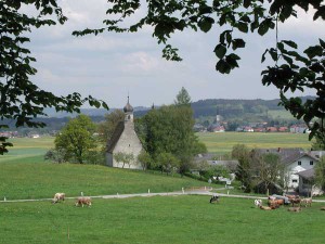
[[[264,37],[243,35],[246,48],[237,54],[239,68],[230,75],[216,72],[213,49],[221,29],[208,34],[186,30],[172,36],[182,62],[161,57],[162,46],[152,37],[152,27],[136,34],[105,33],[74,37],[74,30],[102,27],[106,0],[60,0],[68,21],[64,25],[32,29],[28,48],[37,59],[38,73],[31,80],[56,95],[79,92],[120,108],[130,97],[132,106],[173,103],[184,87],[193,102],[205,99],[278,99],[278,90],[261,82],[261,55],[275,46],[275,33]],[[25,10],[30,12],[31,10]],[[142,11],[136,13],[141,16]],[[325,38],[324,21],[298,10],[298,18],[278,26],[278,39],[294,39],[303,49]],[[307,90],[296,95],[313,95]]]

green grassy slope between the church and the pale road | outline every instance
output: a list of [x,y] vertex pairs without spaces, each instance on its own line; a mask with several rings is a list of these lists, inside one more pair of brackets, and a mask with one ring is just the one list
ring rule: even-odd
[[27,157],[0,163],[0,198],[50,198],[55,192],[67,196],[181,191],[204,184],[191,178],[109,168],[100,165],[42,163]]

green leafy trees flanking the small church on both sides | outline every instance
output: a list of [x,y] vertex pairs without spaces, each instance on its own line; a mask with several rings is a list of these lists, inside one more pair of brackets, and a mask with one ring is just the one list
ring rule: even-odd
[[[96,126],[88,116],[79,115],[69,120],[56,136],[55,149],[48,152],[47,158],[79,164],[104,162],[107,140],[123,117],[125,114],[116,110]],[[115,159],[123,166],[138,159],[144,169],[167,174],[177,169],[183,174],[190,169],[194,155],[206,152],[206,146],[193,132],[191,97],[184,88],[177,95],[174,104],[153,107],[134,123],[144,151],[138,158],[122,152],[115,154]]]

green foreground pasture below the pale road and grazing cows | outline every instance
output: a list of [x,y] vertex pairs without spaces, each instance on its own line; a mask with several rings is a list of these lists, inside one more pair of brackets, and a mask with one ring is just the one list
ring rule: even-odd
[[324,243],[320,203],[300,213],[261,210],[253,200],[152,196],[102,200],[88,207],[73,200],[0,203],[0,243]]

